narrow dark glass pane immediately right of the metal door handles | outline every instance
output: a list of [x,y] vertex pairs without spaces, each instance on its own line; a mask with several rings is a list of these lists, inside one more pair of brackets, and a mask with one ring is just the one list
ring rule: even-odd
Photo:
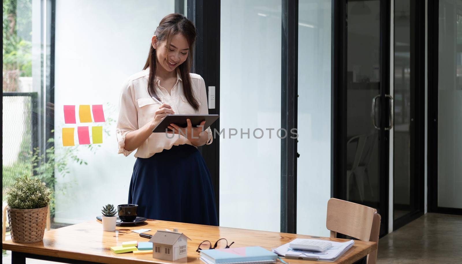
[[[393,129],[393,219],[414,210],[411,204],[411,5],[410,0],[395,4],[395,65]],[[414,41],[414,40],[412,40]],[[416,87],[417,89],[417,87]]]

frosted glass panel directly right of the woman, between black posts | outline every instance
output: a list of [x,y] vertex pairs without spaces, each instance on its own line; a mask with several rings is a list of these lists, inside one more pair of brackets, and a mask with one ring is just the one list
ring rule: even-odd
[[220,31],[220,226],[280,231],[281,1],[222,0]]

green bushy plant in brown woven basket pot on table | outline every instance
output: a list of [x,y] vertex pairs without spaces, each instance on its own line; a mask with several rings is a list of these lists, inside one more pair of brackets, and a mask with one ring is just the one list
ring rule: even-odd
[[17,178],[6,192],[11,239],[16,243],[43,240],[51,191],[38,178]]

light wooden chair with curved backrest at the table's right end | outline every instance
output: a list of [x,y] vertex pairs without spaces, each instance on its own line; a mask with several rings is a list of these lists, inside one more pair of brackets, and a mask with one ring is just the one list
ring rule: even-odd
[[[365,205],[330,198],[327,203],[326,227],[330,237],[337,233],[353,238],[378,243],[380,232],[380,215],[377,209]],[[367,264],[377,262],[377,250],[367,256]]]

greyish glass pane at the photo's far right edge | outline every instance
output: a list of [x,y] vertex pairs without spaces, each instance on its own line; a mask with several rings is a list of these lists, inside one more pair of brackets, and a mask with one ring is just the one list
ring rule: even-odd
[[438,206],[462,208],[462,0],[439,1]]

